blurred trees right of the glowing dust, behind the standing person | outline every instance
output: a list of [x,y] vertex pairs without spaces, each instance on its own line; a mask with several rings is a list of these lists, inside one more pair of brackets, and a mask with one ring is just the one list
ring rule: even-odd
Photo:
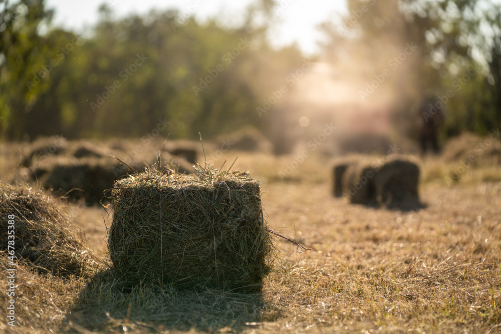
[[[501,54],[498,5],[482,0],[348,0],[348,8],[349,15],[341,21],[321,27],[328,36],[324,45],[327,59],[346,60],[348,53],[355,57],[358,71],[362,69],[362,75],[372,78],[405,45],[417,46],[412,59],[401,64],[385,83],[398,92],[394,105],[399,111],[398,123],[412,126],[410,106],[427,90],[438,96],[451,90],[454,98],[446,105],[444,134],[454,135],[468,127],[485,134],[499,126],[500,91],[495,79],[500,77]],[[468,79],[471,67],[474,80]],[[461,81],[463,77],[468,80]]]

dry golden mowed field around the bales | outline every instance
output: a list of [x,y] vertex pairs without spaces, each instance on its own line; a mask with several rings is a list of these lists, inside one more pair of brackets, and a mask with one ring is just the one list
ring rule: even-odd
[[[3,182],[16,173],[17,149],[2,148]],[[298,252],[277,239],[280,258],[262,293],[142,286],[124,291],[104,266],[84,279],[40,274],[18,263],[16,327],[7,325],[2,307],[0,331],[501,332],[498,164],[470,166],[451,183],[447,177],[460,161],[420,159],[425,206],[398,211],[334,198],[332,158],[312,154],[284,180],[279,172],[293,155],[229,150],[214,164],[226,158],[227,168],[236,156],[232,169],[246,169],[262,182],[269,227],[311,248]],[[111,210],[64,202],[87,246],[107,261]],[[5,274],[0,278],[7,302],[8,281]]]

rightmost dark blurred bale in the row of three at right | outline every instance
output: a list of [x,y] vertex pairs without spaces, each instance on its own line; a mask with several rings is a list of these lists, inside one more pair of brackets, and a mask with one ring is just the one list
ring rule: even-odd
[[388,208],[418,209],[419,167],[407,158],[386,162],[374,176],[377,201]]

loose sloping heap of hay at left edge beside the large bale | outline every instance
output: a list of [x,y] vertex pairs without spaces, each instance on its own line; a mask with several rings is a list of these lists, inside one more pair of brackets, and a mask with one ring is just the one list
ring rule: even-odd
[[[64,206],[33,188],[0,183],[0,244],[8,250],[9,215],[14,215],[15,254],[41,272],[92,277],[100,268],[97,257],[83,244],[83,234],[73,227]],[[11,238],[12,239],[12,238]]]

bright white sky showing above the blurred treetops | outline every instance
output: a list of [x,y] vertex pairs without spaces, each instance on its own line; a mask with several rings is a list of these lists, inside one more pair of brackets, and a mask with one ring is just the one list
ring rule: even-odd
[[[220,17],[223,20],[238,20],[252,0],[198,0],[200,6],[195,17],[204,20],[208,17]],[[270,40],[276,46],[297,42],[301,49],[311,54],[317,51],[317,42],[322,35],[316,27],[325,21],[336,19],[337,15],[347,12],[345,0],[277,0],[282,4],[277,11],[279,21],[272,31]],[[166,10],[178,8],[181,13],[192,6],[195,0],[47,0],[47,7],[55,9],[54,23],[63,27],[81,31],[86,26],[96,23],[98,8],[108,3],[117,16],[130,13],[145,14],[151,9]],[[278,10],[278,9],[277,9]]]

